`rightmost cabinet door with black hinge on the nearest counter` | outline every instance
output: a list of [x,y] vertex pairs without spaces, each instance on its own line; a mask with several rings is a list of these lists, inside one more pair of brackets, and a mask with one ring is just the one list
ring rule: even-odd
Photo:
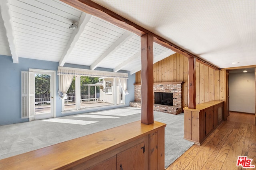
[[117,154],[117,170],[144,170],[145,166],[144,142]]

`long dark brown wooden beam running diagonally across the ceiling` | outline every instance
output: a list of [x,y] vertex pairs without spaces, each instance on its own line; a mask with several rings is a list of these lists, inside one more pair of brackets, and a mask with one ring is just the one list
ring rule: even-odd
[[193,55],[192,53],[178,47],[177,45],[171,43],[170,41],[167,41],[166,39],[148,31],[147,29],[144,29],[143,27],[133,23],[130,20],[127,20],[126,18],[108,10],[107,8],[105,8],[103,6],[100,6],[99,4],[92,2],[91,0],[60,0],[60,1],[65,2],[66,4],[69,4],[70,6],[73,6],[74,8],[77,8],[78,10],[81,10],[83,12],[86,12],[88,14],[96,16],[98,18],[102,18],[103,20],[113,23],[114,25],[117,25],[118,27],[121,27],[128,31],[131,31],[140,37],[145,34],[152,35],[154,37],[155,43],[158,43],[158,44],[162,45],[163,47],[171,49],[172,51],[174,51],[176,53],[180,53],[188,58],[194,57],[198,61],[201,61],[202,63],[204,63],[208,66],[211,66],[214,69],[219,69],[218,67],[214,66],[213,64],[210,64],[207,61],[200,59],[196,55]]

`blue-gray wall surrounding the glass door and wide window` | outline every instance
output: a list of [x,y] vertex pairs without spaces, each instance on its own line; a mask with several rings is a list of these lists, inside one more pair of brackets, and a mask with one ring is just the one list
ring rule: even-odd
[[[85,68],[88,66],[65,64],[67,67]],[[26,122],[28,119],[21,119],[21,71],[28,71],[29,68],[43,69],[43,70],[58,70],[58,62],[34,60],[19,58],[19,63],[14,64],[12,57],[0,55],[0,125]],[[112,71],[111,69],[98,68],[98,70]],[[125,71],[120,71],[125,72]],[[129,95],[125,96],[126,105],[134,101],[134,84],[135,74],[130,75],[127,81]],[[58,76],[56,75],[56,89],[58,90]],[[57,91],[56,90],[56,91]],[[98,109],[81,110],[74,113],[63,114],[61,113],[61,100],[58,98],[56,92],[56,117],[65,115],[72,115],[78,113],[85,113],[90,111],[98,111]],[[124,107],[112,106],[108,109]],[[102,109],[103,110],[103,109]]]

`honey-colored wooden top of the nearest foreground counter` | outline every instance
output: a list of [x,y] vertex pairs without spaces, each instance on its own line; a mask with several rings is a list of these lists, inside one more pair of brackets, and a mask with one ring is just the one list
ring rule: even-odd
[[[0,160],[0,169],[58,169],[79,164],[166,127],[154,121],[150,125],[135,121],[41,149]],[[85,145],[82,145],[85,144]]]

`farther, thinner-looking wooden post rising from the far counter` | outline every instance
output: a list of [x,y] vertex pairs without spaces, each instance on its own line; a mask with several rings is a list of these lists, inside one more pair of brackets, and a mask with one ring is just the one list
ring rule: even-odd
[[188,58],[188,108],[196,108],[196,59]]

